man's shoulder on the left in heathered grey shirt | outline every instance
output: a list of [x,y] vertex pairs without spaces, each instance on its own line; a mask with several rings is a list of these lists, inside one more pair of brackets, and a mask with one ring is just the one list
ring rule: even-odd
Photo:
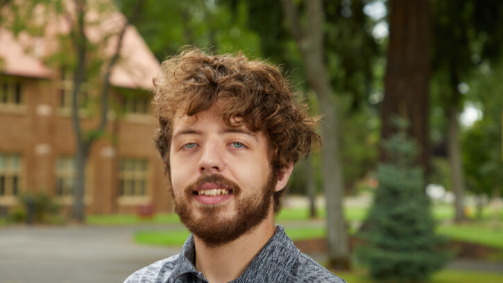
[[156,261],[153,264],[146,266],[139,271],[129,275],[124,283],[161,283],[165,282],[171,275],[171,272],[176,267],[176,259],[178,255],[173,255],[167,259]]

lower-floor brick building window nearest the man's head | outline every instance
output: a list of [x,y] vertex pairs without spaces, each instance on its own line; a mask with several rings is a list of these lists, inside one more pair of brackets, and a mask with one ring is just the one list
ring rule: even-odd
[[123,159],[119,171],[119,194],[121,196],[146,195],[147,160]]

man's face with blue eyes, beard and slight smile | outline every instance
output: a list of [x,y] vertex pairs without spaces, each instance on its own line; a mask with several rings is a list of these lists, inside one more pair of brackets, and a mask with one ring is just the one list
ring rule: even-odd
[[271,172],[262,132],[226,126],[215,108],[176,117],[172,132],[175,210],[196,237],[220,246],[272,217],[273,192],[284,183]]

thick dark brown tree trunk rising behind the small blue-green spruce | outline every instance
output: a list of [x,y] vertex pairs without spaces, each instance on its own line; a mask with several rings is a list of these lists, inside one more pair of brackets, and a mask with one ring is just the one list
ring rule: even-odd
[[[417,163],[429,171],[428,87],[431,11],[429,0],[391,0],[390,33],[384,100],[381,105],[382,140],[396,132],[391,117],[411,124],[409,135],[420,146]],[[386,161],[381,150],[380,160]]]

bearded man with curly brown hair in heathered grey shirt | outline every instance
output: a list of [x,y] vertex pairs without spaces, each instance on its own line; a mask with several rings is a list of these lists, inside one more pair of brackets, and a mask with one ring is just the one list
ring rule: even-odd
[[344,282],[274,225],[293,164],[319,140],[278,69],[189,49],[154,88],[157,149],[192,234],[126,282]]

